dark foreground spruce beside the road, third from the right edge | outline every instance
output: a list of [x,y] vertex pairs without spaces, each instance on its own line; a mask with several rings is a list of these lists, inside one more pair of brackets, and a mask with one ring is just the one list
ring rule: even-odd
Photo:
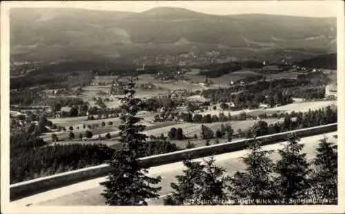
[[[248,200],[250,204],[263,204],[275,198],[273,188],[273,160],[268,155],[273,150],[262,150],[262,142],[256,139],[256,130],[251,137],[253,142],[248,142],[248,154],[240,157],[246,168],[244,172],[237,171],[230,179],[231,197],[235,200]],[[257,201],[259,200],[259,201]],[[261,202],[260,200],[266,200]],[[268,203],[269,204],[269,203]]]

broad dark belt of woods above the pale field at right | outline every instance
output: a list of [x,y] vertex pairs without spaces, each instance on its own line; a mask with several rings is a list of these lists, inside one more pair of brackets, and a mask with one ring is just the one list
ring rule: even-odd
[[275,79],[271,81],[264,79],[245,86],[236,85],[229,88],[203,90],[201,95],[213,102],[233,101],[237,108],[257,108],[260,102],[270,106],[288,104],[292,102],[292,97],[324,98],[324,87],[314,86],[311,80],[306,79]]

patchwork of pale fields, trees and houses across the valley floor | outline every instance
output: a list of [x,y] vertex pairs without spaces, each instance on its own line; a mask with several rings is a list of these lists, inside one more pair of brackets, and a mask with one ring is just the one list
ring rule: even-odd
[[[255,62],[256,68],[239,68],[232,72],[226,70],[226,66],[242,62],[231,61],[220,64],[220,67],[219,64],[214,68],[210,66],[208,69],[175,66],[152,73],[146,64],[137,66],[137,74],[133,77],[137,84],[137,96],[148,104],[148,108],[141,110],[139,115],[144,118],[142,123],[149,128],[150,136],[166,137],[170,128],[182,128],[186,139],[176,144],[177,148],[183,149],[186,148],[187,142],[200,146],[204,144],[205,139],[194,139],[194,135],[198,135],[200,130],[193,122],[206,126],[210,124],[211,129],[216,132],[221,124],[235,124],[234,121],[237,121],[236,125],[233,125],[233,134],[239,137],[238,130],[245,132],[260,119],[266,119],[268,124],[273,124],[291,112],[318,110],[326,106],[335,108],[335,70],[299,66],[284,60],[279,64]],[[220,72],[219,77],[208,77],[208,73],[214,74],[219,70],[224,72]],[[31,101],[32,104],[13,101],[11,123],[16,124],[15,126],[26,126],[29,122],[39,126],[41,117],[38,115],[43,114],[46,124],[40,136],[49,144],[81,141],[82,144],[102,142],[109,146],[116,145],[121,113],[121,103],[117,97],[123,95],[123,87],[130,76],[103,75],[102,72],[93,70],[89,72],[88,82],[83,83],[83,86],[56,89],[43,89],[44,86],[38,86],[26,89],[34,97],[26,96],[21,99],[24,103]],[[81,74],[74,72],[69,77],[72,79],[73,75],[77,79]],[[288,85],[278,88],[282,95],[288,96],[288,101],[284,100],[282,103],[282,100],[274,100],[279,99],[278,95],[273,95],[273,92],[277,91],[273,88],[275,83]],[[256,89],[257,86],[265,84],[266,88]],[[301,87],[301,92],[297,94],[288,88],[290,84],[295,87],[302,84],[304,87]],[[11,93],[11,99],[15,99],[16,95],[21,96],[18,89],[11,90]],[[226,93],[228,97],[217,97],[219,93]],[[253,93],[260,96],[256,97]],[[246,100],[246,96],[254,96],[254,99]],[[41,105],[37,105],[39,103]],[[188,117],[192,119],[187,119],[186,115],[190,115]],[[227,117],[226,121],[219,120],[223,115]],[[217,139],[221,142],[226,140],[226,137]]]

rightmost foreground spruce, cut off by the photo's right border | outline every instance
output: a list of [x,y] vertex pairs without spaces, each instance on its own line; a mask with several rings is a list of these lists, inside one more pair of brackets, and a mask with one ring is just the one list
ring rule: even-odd
[[317,154],[313,161],[315,166],[312,173],[313,197],[319,199],[337,199],[337,145],[327,142],[324,138],[319,141]]

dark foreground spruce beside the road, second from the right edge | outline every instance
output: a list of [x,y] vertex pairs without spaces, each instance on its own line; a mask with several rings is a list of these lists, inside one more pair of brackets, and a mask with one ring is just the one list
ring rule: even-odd
[[296,135],[289,135],[284,148],[279,149],[279,159],[275,166],[275,179],[279,197],[286,202],[290,199],[306,197],[310,182],[308,175],[311,173],[306,159],[306,153],[302,153],[304,144],[299,143]]

